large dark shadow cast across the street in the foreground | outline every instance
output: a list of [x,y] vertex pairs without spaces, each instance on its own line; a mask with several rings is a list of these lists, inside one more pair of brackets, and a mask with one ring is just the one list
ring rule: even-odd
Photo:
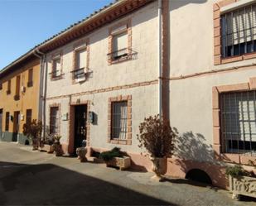
[[0,162],[0,170],[1,205],[175,205],[57,165]]

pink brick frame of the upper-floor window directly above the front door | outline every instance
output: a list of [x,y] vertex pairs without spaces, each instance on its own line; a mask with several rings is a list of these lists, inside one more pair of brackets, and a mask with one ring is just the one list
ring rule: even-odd
[[[83,46],[83,45],[85,45],[85,46]],[[73,45],[72,71],[74,71],[76,69],[75,68],[76,51],[83,50],[84,48],[86,48],[86,68],[85,68],[85,72],[89,71],[89,38],[77,41]],[[75,82],[75,79],[73,78],[73,74],[71,74],[71,81],[72,81],[72,84],[79,84],[79,82]]]

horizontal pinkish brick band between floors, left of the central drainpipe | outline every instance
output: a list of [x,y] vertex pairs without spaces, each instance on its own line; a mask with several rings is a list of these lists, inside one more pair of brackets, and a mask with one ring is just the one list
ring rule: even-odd
[[57,98],[69,98],[70,95],[71,96],[81,96],[81,95],[87,95],[87,94],[93,94],[93,93],[106,93],[106,92],[110,92],[110,91],[114,91],[114,90],[131,89],[131,88],[144,87],[144,86],[153,85],[153,84],[158,84],[158,80],[133,83],[133,84],[125,84],[125,85],[121,85],[121,86],[115,86],[115,87],[109,87],[109,88],[103,88],[103,89],[94,89],[94,90],[89,90],[89,91],[85,91],[85,92],[81,92],[81,93],[70,93],[70,94],[60,95],[60,96],[46,98],[46,99],[51,100],[51,99],[57,99]]

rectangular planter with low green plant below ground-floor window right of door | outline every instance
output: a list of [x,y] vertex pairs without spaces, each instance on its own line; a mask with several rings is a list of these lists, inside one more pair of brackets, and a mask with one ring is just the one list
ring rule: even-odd
[[117,166],[120,170],[125,170],[131,165],[131,158],[123,156],[123,152],[118,147],[114,147],[111,151],[101,152],[99,158],[104,160],[107,166]]

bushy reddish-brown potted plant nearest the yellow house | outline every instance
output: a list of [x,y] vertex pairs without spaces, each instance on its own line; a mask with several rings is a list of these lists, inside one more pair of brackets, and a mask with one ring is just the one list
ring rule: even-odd
[[42,125],[40,121],[33,119],[23,125],[23,134],[32,141],[33,150],[37,150],[41,139]]

